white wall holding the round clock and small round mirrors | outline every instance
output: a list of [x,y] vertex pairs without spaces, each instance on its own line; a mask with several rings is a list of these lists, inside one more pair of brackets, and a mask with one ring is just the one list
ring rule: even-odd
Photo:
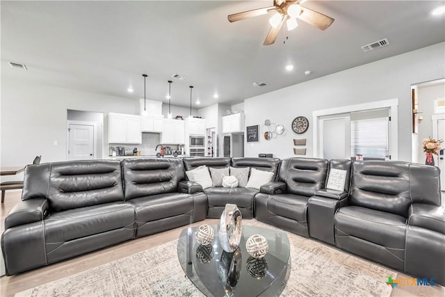
[[[245,156],[257,156],[261,152],[273,152],[278,158],[295,156],[293,138],[307,138],[306,156],[310,157],[312,111],[398,98],[398,159],[411,161],[411,85],[443,78],[444,52],[445,43],[441,42],[245,99],[246,126],[262,125],[270,119],[286,128],[282,136],[270,141],[260,137],[259,143],[246,143]],[[291,130],[291,122],[298,115],[309,119],[305,134],[298,135]]]

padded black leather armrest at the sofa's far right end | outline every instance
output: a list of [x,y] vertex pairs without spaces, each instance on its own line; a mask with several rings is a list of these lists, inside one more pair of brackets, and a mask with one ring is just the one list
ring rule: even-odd
[[445,209],[432,204],[411,204],[408,212],[408,225],[445,234]]

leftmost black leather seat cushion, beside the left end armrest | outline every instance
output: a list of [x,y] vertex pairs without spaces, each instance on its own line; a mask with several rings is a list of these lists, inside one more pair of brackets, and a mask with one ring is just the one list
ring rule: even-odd
[[98,204],[50,214],[44,219],[47,253],[67,241],[111,230],[127,229],[134,233],[134,223],[134,208],[128,202]]

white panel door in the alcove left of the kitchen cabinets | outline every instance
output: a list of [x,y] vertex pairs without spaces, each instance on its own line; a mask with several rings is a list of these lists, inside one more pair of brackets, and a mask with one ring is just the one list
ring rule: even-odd
[[68,160],[94,159],[94,126],[70,124]]

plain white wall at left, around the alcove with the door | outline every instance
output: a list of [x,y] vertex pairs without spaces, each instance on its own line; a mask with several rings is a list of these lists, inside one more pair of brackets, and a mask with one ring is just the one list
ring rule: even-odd
[[26,165],[36,155],[66,160],[67,109],[137,114],[138,101],[1,79],[1,166]]

